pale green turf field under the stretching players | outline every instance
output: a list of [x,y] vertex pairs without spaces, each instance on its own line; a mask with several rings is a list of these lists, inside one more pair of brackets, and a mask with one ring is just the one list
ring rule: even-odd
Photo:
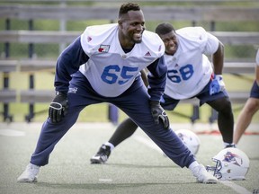
[[[17,183],[29,162],[40,134],[40,123],[0,123],[1,194],[246,194],[259,189],[259,136],[242,137],[238,147],[250,158],[246,181],[196,183],[188,169],[176,166],[140,130],[115,148],[107,164],[90,164],[90,157],[112,135],[110,123],[76,123],[50,155],[49,164],[40,169],[37,183]],[[183,128],[172,124],[172,127]],[[200,130],[210,128],[197,126]],[[257,128],[258,129],[258,128]],[[255,127],[255,130],[258,130]],[[213,164],[212,156],[223,147],[219,135],[199,135],[197,159]]]

